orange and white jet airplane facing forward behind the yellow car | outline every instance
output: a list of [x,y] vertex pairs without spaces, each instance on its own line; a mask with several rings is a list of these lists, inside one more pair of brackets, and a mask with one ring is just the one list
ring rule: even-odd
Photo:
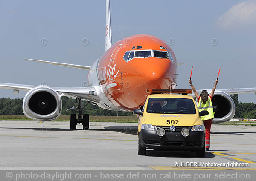
[[[62,111],[62,96],[78,99],[78,109],[70,116],[70,129],[82,123],[89,129],[89,115],[82,116],[81,100],[114,111],[133,111],[142,108],[148,88],[175,89],[177,84],[176,57],[168,44],[152,35],[137,34],[112,45],[109,0],[106,0],[105,52],[92,66],[81,66],[43,60],[25,59],[41,63],[89,70],[88,87],[49,87],[0,83],[0,88],[15,93],[28,91],[23,101],[23,113],[34,120],[57,119]],[[180,63],[182,64],[182,63]],[[200,90],[199,90],[200,91]],[[208,90],[210,92],[211,90]],[[235,115],[235,104],[229,94],[256,92],[256,88],[221,89],[215,91],[213,122],[229,121]]]

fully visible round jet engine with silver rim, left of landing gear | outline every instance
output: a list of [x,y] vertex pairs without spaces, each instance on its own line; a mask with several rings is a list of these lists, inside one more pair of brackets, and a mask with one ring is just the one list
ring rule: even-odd
[[22,109],[28,118],[51,121],[61,115],[62,100],[54,89],[38,86],[27,92]]

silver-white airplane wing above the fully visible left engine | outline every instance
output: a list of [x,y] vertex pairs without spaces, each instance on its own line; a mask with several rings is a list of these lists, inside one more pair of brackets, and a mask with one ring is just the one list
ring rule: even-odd
[[[14,92],[18,91],[29,91],[38,86],[31,85],[22,85],[22,84],[13,84],[13,83],[0,83],[0,88],[3,89],[13,89]],[[81,98],[87,101],[92,101],[99,103],[100,98],[97,95],[96,87],[52,87],[59,94],[64,94],[64,96],[72,98]]]

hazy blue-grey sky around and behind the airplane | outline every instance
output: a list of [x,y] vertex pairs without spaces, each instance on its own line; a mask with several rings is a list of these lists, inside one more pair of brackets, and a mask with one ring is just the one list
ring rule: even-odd
[[[170,43],[177,89],[256,87],[256,0],[110,0],[112,43],[151,34]],[[91,66],[105,46],[105,0],[1,0],[0,82],[81,87],[87,71],[25,58]],[[23,98],[0,89],[0,97]],[[256,103],[256,95],[239,101]]]

